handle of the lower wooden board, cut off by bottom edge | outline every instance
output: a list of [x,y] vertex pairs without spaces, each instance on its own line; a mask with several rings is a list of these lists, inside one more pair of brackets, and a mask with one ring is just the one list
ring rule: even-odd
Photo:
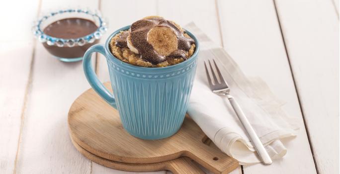
[[173,174],[205,174],[187,157],[168,161],[166,170],[171,171]]

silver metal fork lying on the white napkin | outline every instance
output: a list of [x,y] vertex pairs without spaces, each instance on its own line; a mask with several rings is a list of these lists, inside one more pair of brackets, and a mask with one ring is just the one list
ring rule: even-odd
[[[272,163],[267,151],[264,149],[261,141],[259,140],[258,136],[256,135],[252,125],[249,123],[246,115],[243,113],[240,105],[236,102],[236,100],[234,99],[234,97],[232,95],[229,94],[230,92],[230,87],[228,86],[227,82],[223,79],[223,76],[220,72],[220,70],[218,69],[215,60],[213,60],[214,64],[215,64],[215,69],[217,72],[217,76],[211,66],[210,60],[208,60],[209,62],[209,66],[210,66],[210,71],[211,71],[211,75],[214,79],[214,81],[212,81],[210,79],[210,74],[207,68],[206,63],[204,62],[204,67],[205,67],[205,71],[207,72],[207,77],[208,77],[208,81],[209,81],[209,85],[211,90],[218,94],[218,95],[225,95],[228,97],[231,105],[234,108],[234,111],[236,112],[236,115],[239,117],[242,125],[245,127],[250,139],[252,140],[253,146],[255,147],[255,150],[258,154],[258,156],[262,159],[263,164],[265,165],[270,165]],[[217,80],[217,78],[219,78],[220,81]]]

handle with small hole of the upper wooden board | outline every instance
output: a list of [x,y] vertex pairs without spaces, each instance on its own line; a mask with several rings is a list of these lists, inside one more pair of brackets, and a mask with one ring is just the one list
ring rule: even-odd
[[236,160],[230,158],[221,150],[203,143],[190,152],[185,151],[183,155],[193,159],[214,174],[228,174],[239,166]]

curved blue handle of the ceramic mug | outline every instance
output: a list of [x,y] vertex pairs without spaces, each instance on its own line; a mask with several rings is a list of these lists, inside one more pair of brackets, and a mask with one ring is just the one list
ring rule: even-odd
[[117,108],[116,99],[113,94],[108,91],[106,87],[99,81],[91,64],[91,55],[98,52],[106,57],[105,48],[103,44],[95,44],[87,49],[84,55],[83,68],[86,79],[91,87],[112,107]]

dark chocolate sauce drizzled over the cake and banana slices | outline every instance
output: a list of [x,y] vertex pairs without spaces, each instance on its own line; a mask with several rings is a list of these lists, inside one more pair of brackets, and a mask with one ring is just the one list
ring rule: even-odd
[[[148,32],[156,26],[171,28],[177,37],[177,50],[173,51],[168,56],[157,53],[153,46],[147,42]],[[192,38],[185,37],[183,35],[183,32],[179,28],[177,28],[171,21],[161,17],[141,19],[134,22],[131,25],[129,31],[124,31],[120,35],[119,39],[116,40],[115,45],[118,47],[127,47],[126,38],[129,34],[131,38],[131,44],[138,50],[141,58],[155,65],[166,61],[167,58],[170,57],[183,58],[184,60],[186,60],[187,57],[185,53],[186,51],[190,50],[191,44],[194,43],[194,40]]]

